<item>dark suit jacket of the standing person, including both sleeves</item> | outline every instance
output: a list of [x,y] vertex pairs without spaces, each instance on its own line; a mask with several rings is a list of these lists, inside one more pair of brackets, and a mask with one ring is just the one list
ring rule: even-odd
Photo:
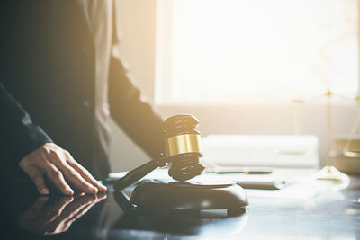
[[[105,177],[110,168],[94,130],[94,39],[85,14],[74,0],[9,0],[0,11],[0,157],[8,171],[53,141]],[[109,71],[112,118],[157,156],[163,121],[141,100],[118,58],[112,57]]]

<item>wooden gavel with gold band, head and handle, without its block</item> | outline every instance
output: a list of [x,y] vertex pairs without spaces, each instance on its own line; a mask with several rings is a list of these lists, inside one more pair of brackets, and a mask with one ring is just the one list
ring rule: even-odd
[[142,164],[127,173],[114,184],[117,190],[124,189],[154,171],[157,167],[170,164],[169,176],[177,181],[186,181],[202,174],[205,167],[202,157],[201,133],[196,129],[199,120],[191,114],[175,115],[164,122],[166,153],[157,159]]

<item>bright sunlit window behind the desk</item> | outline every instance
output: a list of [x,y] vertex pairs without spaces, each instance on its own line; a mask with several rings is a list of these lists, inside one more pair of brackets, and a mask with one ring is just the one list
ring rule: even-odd
[[356,0],[157,0],[156,102],[358,92]]

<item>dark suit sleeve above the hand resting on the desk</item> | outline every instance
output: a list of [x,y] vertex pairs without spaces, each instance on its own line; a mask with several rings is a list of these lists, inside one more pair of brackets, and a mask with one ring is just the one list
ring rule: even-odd
[[24,156],[45,143],[52,142],[49,136],[35,125],[29,114],[7,93],[0,82],[0,143],[3,156],[16,166]]

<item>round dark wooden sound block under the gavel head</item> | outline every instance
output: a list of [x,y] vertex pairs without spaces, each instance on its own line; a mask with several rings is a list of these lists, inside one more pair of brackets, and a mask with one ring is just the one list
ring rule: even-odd
[[138,209],[228,209],[244,211],[247,194],[235,182],[146,180],[132,191]]

